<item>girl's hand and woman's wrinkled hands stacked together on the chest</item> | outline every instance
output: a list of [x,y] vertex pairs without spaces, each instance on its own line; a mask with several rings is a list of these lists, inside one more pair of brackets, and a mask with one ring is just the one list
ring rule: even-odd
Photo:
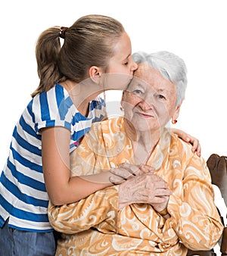
[[172,191],[154,168],[148,165],[121,164],[111,168],[110,182],[119,186],[119,210],[132,203],[151,204],[155,211],[163,211]]

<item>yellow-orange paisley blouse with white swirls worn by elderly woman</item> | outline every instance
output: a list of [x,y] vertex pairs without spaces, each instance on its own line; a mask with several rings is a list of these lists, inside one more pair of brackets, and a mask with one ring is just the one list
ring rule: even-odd
[[[133,149],[123,117],[95,123],[71,155],[72,176],[133,163]],[[49,204],[48,217],[62,233],[57,255],[172,255],[187,248],[208,250],[222,234],[213,202],[210,173],[191,145],[165,129],[148,159],[169,184],[165,220],[150,204],[130,204],[118,211],[118,188],[111,186],[73,204]]]

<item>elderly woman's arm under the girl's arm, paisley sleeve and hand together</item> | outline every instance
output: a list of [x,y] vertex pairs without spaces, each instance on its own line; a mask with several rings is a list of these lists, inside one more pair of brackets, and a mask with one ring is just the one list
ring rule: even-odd
[[[120,186],[111,186],[97,191],[73,204],[54,206],[50,202],[48,218],[51,226],[58,232],[73,234],[102,223],[105,227],[108,226],[108,231],[115,233],[117,232],[119,208],[123,208],[132,202],[148,203],[151,201],[159,204],[164,203],[165,207],[166,198],[162,199],[160,195],[167,195],[169,198],[171,193],[166,188],[166,183],[159,176],[151,173],[134,176],[129,182],[126,181],[125,190],[120,189]],[[153,211],[151,204],[148,204],[148,208]],[[134,211],[132,211],[133,214],[135,214]],[[141,225],[141,221],[135,217],[135,222],[137,221]],[[151,229],[151,226],[152,223],[148,226],[145,225],[144,228]]]

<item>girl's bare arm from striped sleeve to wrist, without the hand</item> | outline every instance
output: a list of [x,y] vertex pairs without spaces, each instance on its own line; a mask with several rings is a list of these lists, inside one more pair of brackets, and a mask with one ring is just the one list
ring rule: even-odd
[[[53,204],[70,204],[112,184],[70,177],[70,131],[63,127],[42,130],[42,168],[48,196]],[[99,180],[99,179],[98,179]],[[107,181],[107,183],[105,183]]]

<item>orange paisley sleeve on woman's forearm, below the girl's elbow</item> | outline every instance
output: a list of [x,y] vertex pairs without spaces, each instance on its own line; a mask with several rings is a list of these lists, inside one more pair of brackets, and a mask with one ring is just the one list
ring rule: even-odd
[[51,226],[61,233],[79,233],[104,223],[104,229],[116,231],[118,186],[95,192],[73,204],[54,206],[49,202],[48,218]]

